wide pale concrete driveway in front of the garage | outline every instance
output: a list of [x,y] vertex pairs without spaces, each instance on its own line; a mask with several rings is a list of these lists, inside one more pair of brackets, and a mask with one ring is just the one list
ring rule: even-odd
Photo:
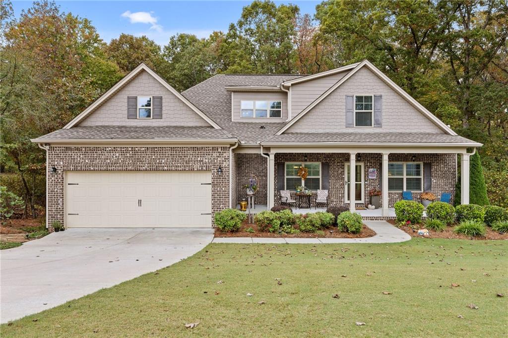
[[212,239],[211,228],[68,229],[2,250],[0,322],[169,266]]

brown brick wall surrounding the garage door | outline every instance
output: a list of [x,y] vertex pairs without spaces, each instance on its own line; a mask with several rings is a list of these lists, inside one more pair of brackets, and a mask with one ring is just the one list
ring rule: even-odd
[[212,220],[216,211],[229,208],[228,147],[50,147],[48,164],[57,169],[48,172],[49,225],[65,222],[65,171],[211,171]]

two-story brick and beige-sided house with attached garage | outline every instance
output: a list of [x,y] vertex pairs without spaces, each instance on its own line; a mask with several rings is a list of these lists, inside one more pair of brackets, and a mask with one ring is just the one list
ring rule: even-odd
[[252,176],[259,209],[305,185],[355,211],[379,189],[388,217],[402,191],[453,196],[458,155],[468,203],[467,148],[482,145],[367,60],[313,75],[220,74],[183,93],[141,64],[33,142],[47,151],[47,223],[66,227],[211,226]]

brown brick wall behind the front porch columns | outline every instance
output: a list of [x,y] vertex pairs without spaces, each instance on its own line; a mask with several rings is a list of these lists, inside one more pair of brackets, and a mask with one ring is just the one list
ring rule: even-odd
[[[382,166],[382,155],[378,153],[359,153],[360,160],[357,164],[364,164],[364,204],[357,203],[357,206],[366,206],[370,204],[369,191],[380,188],[380,175]],[[412,160],[412,157],[415,160]],[[285,162],[326,162],[329,164],[330,189],[328,192],[329,205],[345,205],[344,203],[344,164],[349,163],[349,154],[346,153],[277,153],[275,154],[275,205],[280,204],[280,195],[278,193],[277,182],[277,164]],[[389,162],[423,162],[431,163],[431,192],[439,197],[442,193],[451,193],[452,199],[455,194],[456,179],[456,155],[455,154],[400,154],[390,155]],[[369,168],[377,170],[376,178],[368,178]],[[423,170],[425,176],[425,171]],[[292,193],[294,195],[294,193]],[[420,201],[421,193],[412,193],[415,201]],[[393,207],[395,202],[402,199],[401,192],[389,192],[389,207]],[[381,201],[383,203],[383,200]],[[304,203],[302,201],[302,203]],[[453,203],[453,200],[451,201]],[[312,207],[314,203],[312,201]]]

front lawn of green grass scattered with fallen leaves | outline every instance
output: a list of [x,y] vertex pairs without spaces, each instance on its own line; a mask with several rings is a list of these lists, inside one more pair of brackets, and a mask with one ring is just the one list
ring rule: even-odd
[[508,294],[507,252],[504,240],[210,244],[158,273],[3,325],[2,337],[503,336],[508,296],[496,294]]

